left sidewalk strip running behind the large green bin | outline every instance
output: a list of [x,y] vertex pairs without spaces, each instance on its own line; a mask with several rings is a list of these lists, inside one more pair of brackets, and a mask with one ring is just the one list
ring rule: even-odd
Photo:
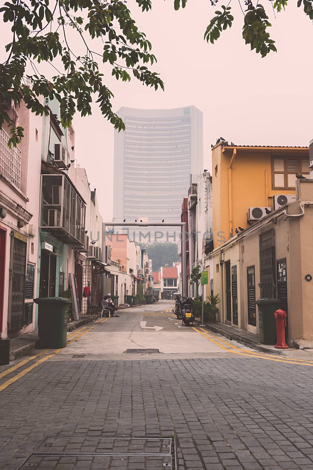
[[[94,315],[92,317],[84,317],[77,321],[70,321],[67,326],[68,331],[73,331],[74,329],[91,323],[92,321],[97,320],[99,315]],[[10,360],[20,359],[29,352],[36,349],[36,342],[39,340],[38,331],[32,331],[23,336],[18,336],[12,338],[10,341]]]

